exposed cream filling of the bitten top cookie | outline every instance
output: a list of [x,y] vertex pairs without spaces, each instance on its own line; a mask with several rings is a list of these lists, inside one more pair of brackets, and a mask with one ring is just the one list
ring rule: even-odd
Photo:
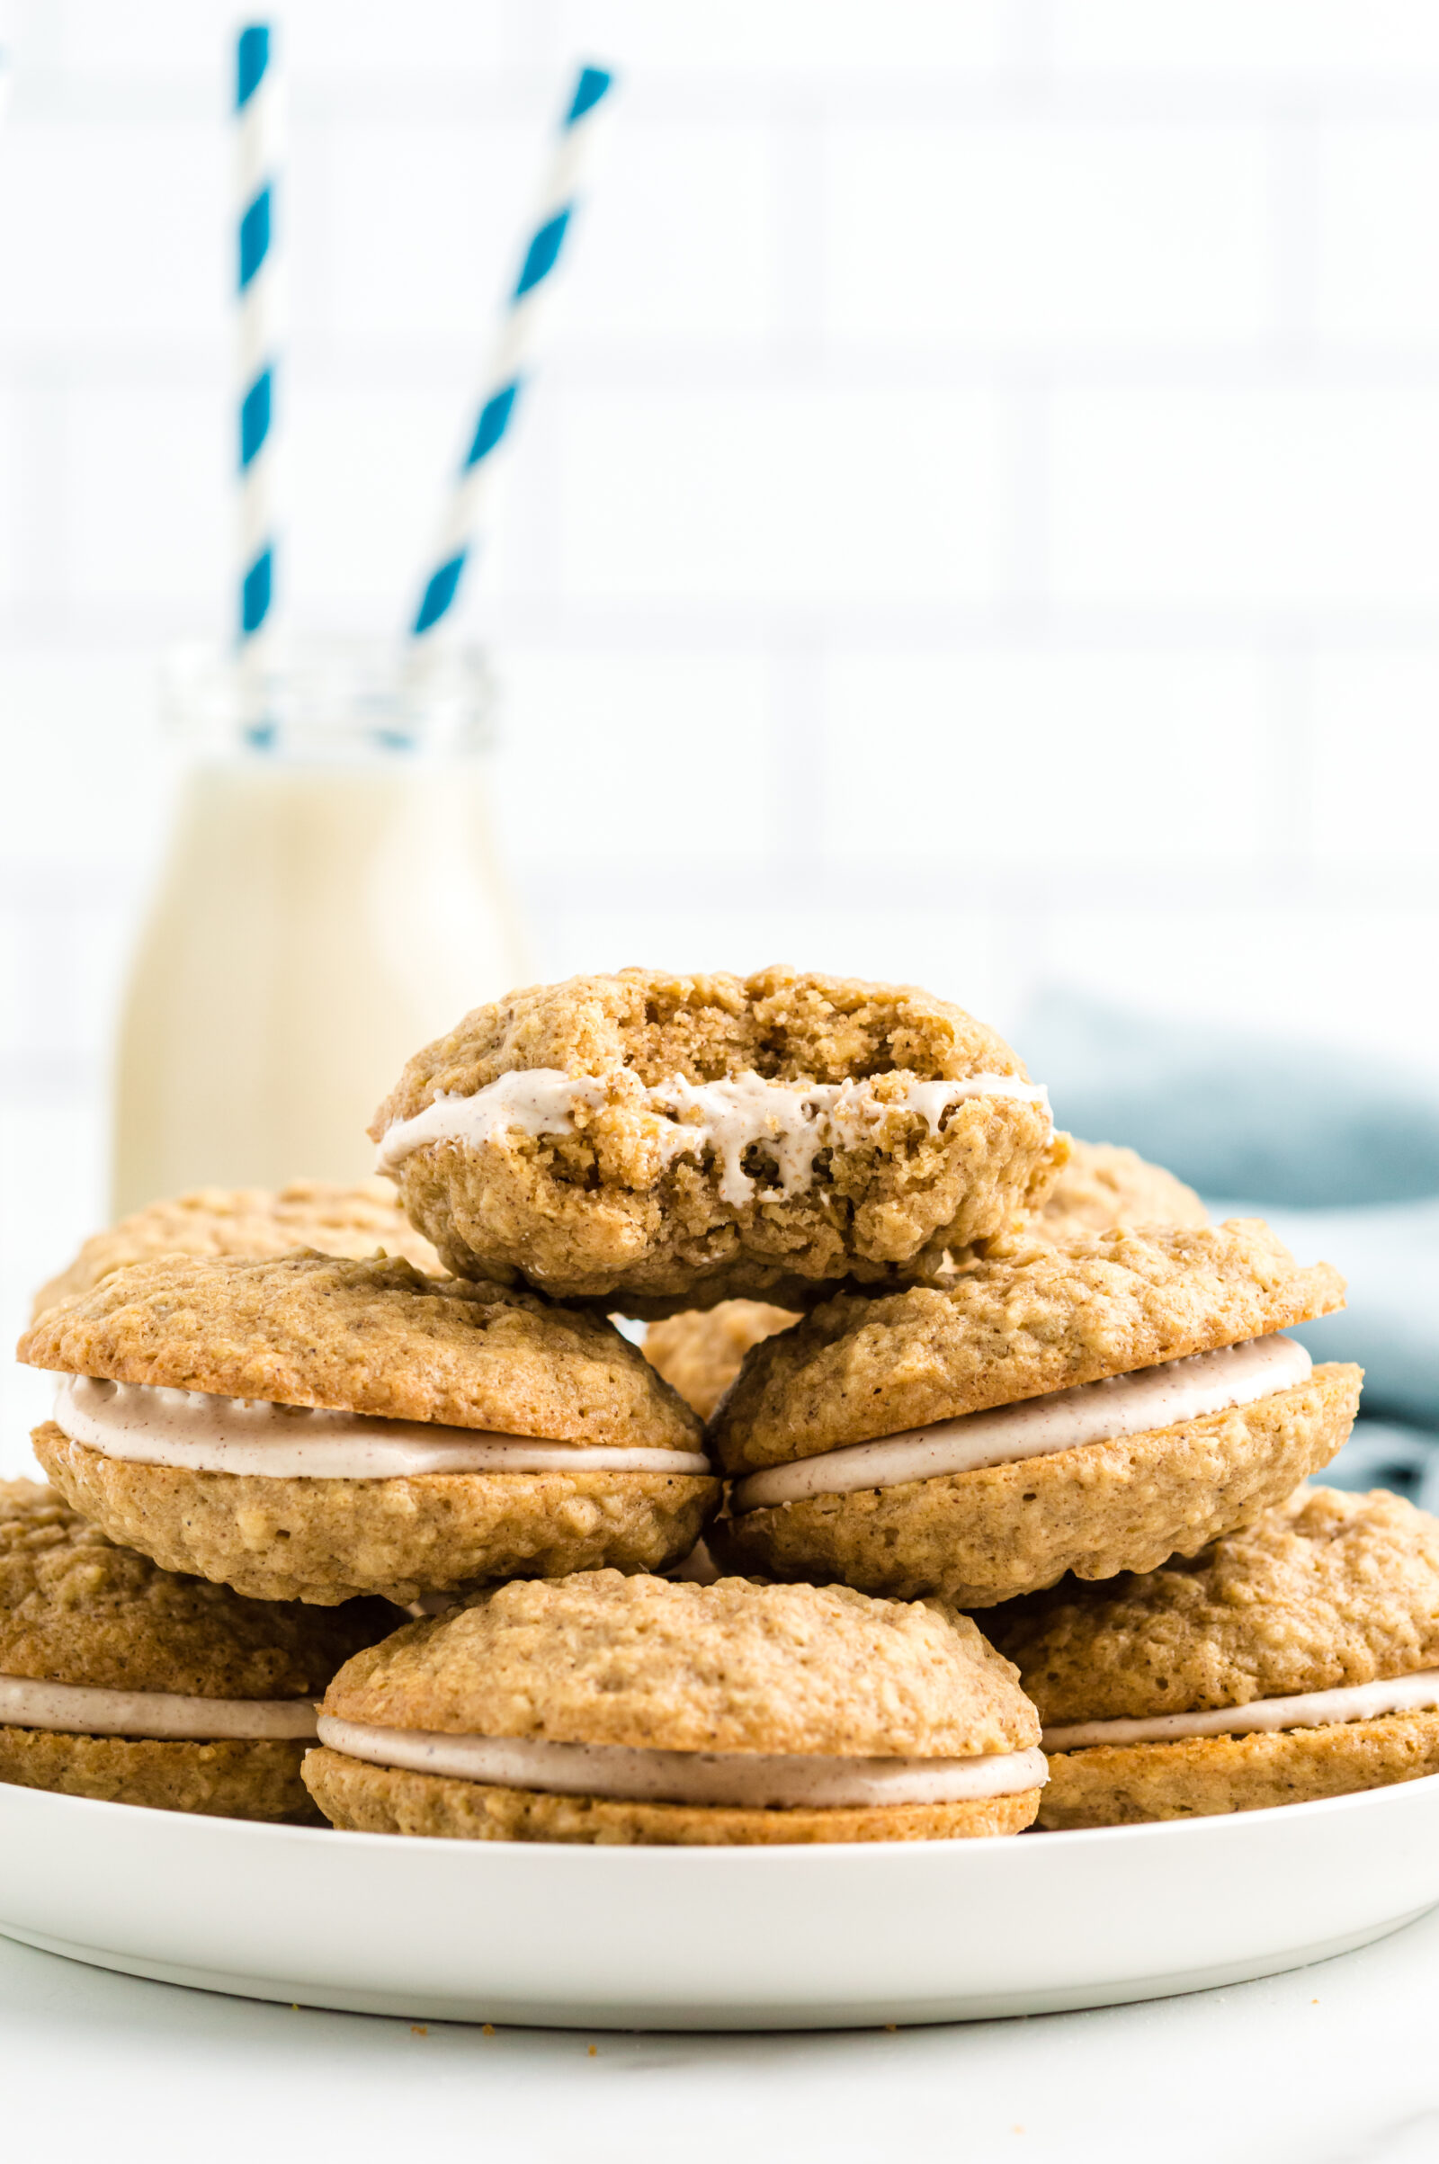
[[[526,1067],[498,1076],[472,1097],[435,1097],[413,1119],[396,1121],[379,1147],[377,1169],[396,1173],[405,1158],[428,1143],[480,1149],[496,1134],[573,1134],[576,1106],[597,1110],[615,1078],[567,1076],[558,1067]],[[660,1147],[673,1158],[714,1153],[721,1164],[721,1201],[747,1203],[757,1184],[744,1171],[744,1151],[762,1143],[779,1169],[783,1195],[801,1195],[814,1177],[820,1149],[853,1149],[872,1140],[889,1112],[920,1112],[939,1134],[946,1112],[967,1097],[1006,1097],[1043,1108],[1041,1082],[1019,1076],[976,1073],[956,1082],[909,1082],[896,1097],[876,1095],[874,1082],[766,1082],[742,1073],[734,1082],[656,1082],[645,1108],[662,1114]]]

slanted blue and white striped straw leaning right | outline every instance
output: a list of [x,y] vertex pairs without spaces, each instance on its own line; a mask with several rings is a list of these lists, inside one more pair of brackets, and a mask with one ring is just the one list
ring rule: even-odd
[[560,121],[519,277],[485,372],[480,418],[454,476],[431,558],[433,571],[415,610],[411,628],[415,638],[424,638],[450,615],[465,563],[474,554],[483,500],[493,480],[496,452],[515,424],[519,392],[534,368],[539,322],[554,292],[554,273],[573,223],[580,182],[595,151],[595,134],[606,113],[612,80],[604,67],[582,67]]

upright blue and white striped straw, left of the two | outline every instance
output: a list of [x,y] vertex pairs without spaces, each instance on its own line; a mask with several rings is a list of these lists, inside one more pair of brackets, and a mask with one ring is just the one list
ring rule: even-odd
[[253,651],[270,628],[275,602],[279,97],[268,24],[247,24],[236,43],[236,145],[240,180],[240,647]]

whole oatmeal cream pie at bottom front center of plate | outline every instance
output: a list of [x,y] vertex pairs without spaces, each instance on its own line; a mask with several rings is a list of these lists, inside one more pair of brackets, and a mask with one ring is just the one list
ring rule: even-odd
[[305,1781],[361,1833],[935,1842],[1028,1826],[1037,1742],[1011,1664],[937,1601],[582,1571],[351,1660]]

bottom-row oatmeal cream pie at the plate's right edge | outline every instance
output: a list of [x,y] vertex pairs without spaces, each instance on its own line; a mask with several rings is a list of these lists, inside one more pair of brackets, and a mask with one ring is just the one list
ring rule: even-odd
[[991,1619],[1039,1703],[1041,1826],[1313,1803],[1439,1772],[1439,1519],[1298,1489],[1190,1562]]

